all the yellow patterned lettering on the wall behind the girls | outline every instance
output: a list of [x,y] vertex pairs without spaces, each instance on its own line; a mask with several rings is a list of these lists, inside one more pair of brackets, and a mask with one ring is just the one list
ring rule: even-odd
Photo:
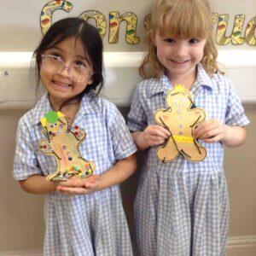
[[[47,32],[51,25],[52,15],[57,9],[61,9],[66,12],[71,12],[73,9],[72,2],[55,0],[50,1],[44,5],[41,12],[41,30],[43,33]],[[120,22],[125,21],[127,23],[125,41],[127,44],[139,44],[140,38],[137,37],[137,15],[132,12],[125,12],[120,15],[118,11],[109,12],[109,22],[107,25],[106,17],[99,10],[87,10],[84,11],[79,17],[84,20],[90,18],[96,20],[96,26],[102,36],[105,37],[108,26],[108,43],[119,43],[119,25]],[[150,15],[146,15],[144,19],[144,28],[148,30],[148,22],[150,22]],[[247,24],[245,24],[245,15],[236,15],[234,26],[230,35],[227,35],[227,27],[229,24],[230,15],[212,13],[212,23],[217,24],[216,30],[216,42],[219,45],[226,44],[250,44],[256,46],[256,38],[254,36],[256,28],[256,17],[253,17]],[[231,22],[232,20],[230,20]],[[245,28],[245,35],[242,36],[243,29]]]

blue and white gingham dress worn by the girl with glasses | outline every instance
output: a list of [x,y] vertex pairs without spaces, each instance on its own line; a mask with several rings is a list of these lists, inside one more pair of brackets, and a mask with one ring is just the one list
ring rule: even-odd
[[[40,119],[52,110],[48,95],[19,121],[14,177],[24,180],[33,174],[47,176],[55,172],[55,157],[39,152],[45,135]],[[125,120],[111,102],[84,96],[73,125],[86,131],[80,153],[95,161],[95,174],[111,168],[117,160],[136,152]],[[45,256],[120,256],[132,255],[131,239],[122,207],[119,186],[90,195],[46,195]]]

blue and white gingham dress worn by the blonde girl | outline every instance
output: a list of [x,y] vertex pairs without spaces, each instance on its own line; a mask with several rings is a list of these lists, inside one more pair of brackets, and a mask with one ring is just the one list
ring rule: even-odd
[[[166,108],[172,84],[165,75],[137,85],[128,114],[131,131],[155,124],[154,112]],[[210,78],[201,64],[192,94],[207,119],[227,125],[249,123],[230,80],[220,74]],[[189,162],[179,155],[172,163],[156,158],[156,148],[146,152],[135,200],[136,255],[224,256],[228,235],[229,201],[224,177],[224,147],[201,143],[207,158]]]

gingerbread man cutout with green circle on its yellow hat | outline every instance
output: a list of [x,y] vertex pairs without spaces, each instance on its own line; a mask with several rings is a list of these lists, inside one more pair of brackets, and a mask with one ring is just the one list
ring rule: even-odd
[[65,115],[55,111],[46,113],[41,124],[47,139],[41,141],[39,150],[55,156],[58,163],[56,172],[49,174],[47,179],[60,181],[72,175],[89,177],[95,170],[95,163],[85,160],[79,152],[85,131],[77,125],[69,129]]

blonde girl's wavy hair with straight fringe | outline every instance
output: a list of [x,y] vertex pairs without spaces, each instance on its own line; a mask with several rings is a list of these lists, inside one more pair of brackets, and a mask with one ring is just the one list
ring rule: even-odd
[[[143,78],[160,78],[164,67],[156,55],[154,35],[188,39],[206,38],[201,60],[207,73],[220,72],[217,64],[218,51],[212,37],[212,13],[207,0],[156,0],[150,20],[150,29],[146,35],[148,54],[145,56],[139,72]],[[149,64],[149,70],[146,66]]]

